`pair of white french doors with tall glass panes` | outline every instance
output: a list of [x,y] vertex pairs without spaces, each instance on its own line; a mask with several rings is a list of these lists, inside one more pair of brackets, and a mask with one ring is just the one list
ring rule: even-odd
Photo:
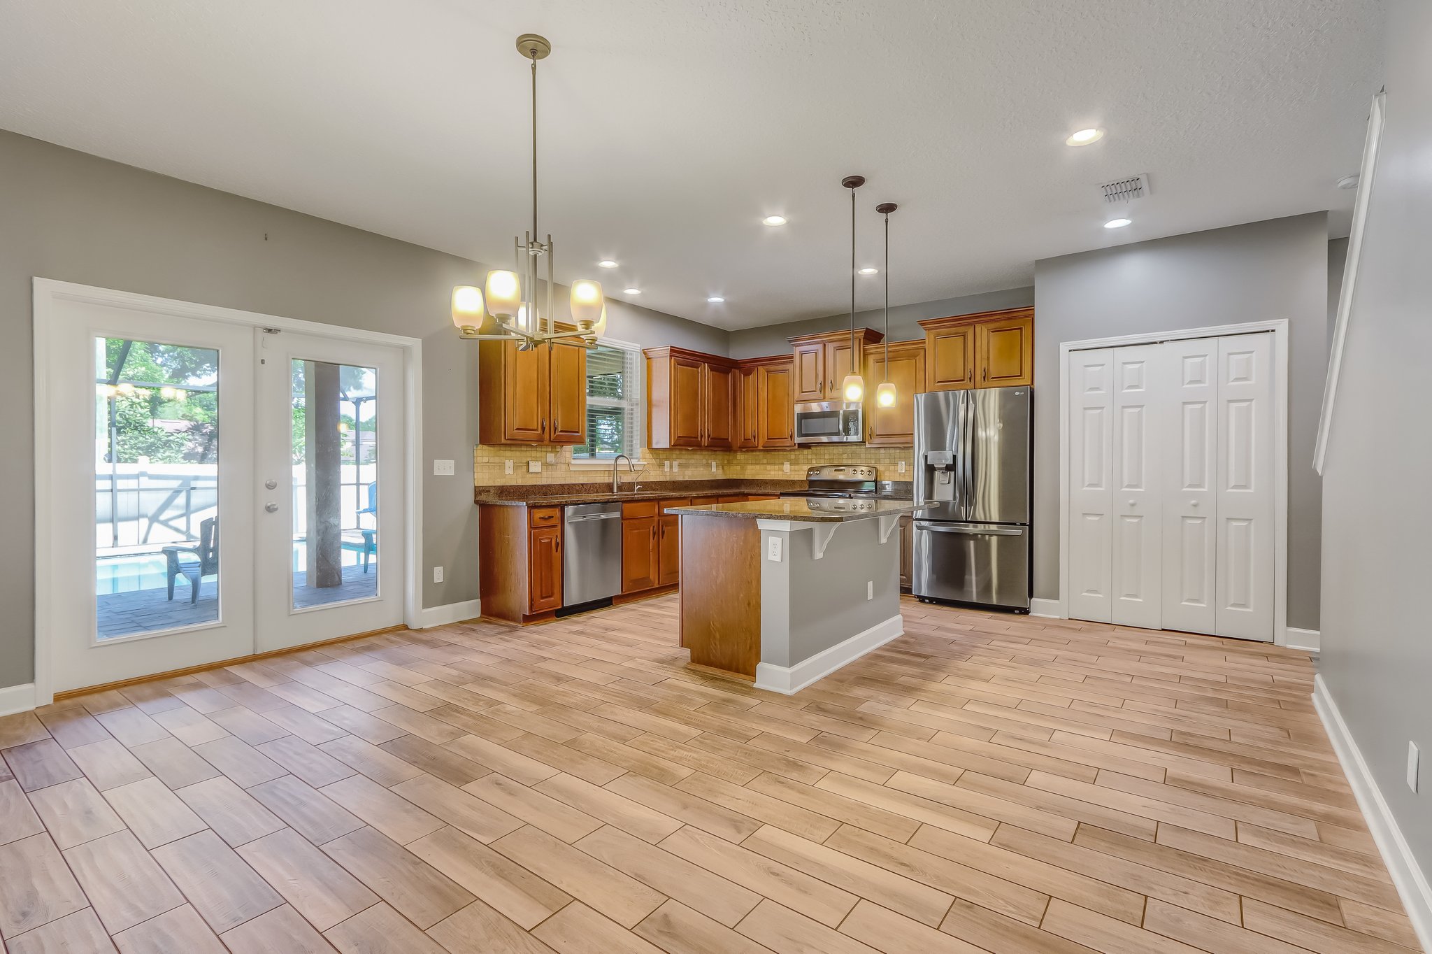
[[36,314],[52,692],[402,622],[400,348],[84,297]]

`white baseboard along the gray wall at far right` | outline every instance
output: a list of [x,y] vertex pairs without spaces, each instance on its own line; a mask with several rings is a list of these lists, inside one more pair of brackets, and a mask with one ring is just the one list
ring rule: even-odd
[[1428,885],[1426,874],[1412,857],[1412,848],[1402,837],[1398,819],[1392,816],[1392,809],[1382,798],[1378,782],[1373,781],[1372,772],[1358,749],[1358,742],[1348,731],[1342,713],[1337,712],[1337,703],[1327,692],[1327,683],[1323,682],[1322,675],[1313,679],[1313,705],[1317,708],[1317,715],[1322,716],[1323,728],[1327,729],[1327,738],[1333,743],[1337,761],[1342,762],[1352,792],[1358,798],[1358,806],[1362,809],[1363,818],[1368,819],[1372,839],[1378,842],[1378,851],[1382,852],[1382,859],[1388,864],[1388,872],[1408,910],[1412,930],[1418,933],[1423,950],[1432,951],[1432,887]]

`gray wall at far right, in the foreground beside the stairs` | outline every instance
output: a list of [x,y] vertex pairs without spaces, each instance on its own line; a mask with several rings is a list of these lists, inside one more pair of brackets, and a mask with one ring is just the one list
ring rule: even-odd
[[[1432,875],[1432,4],[1398,0],[1388,112],[1323,468],[1320,675]],[[1421,792],[1403,775],[1422,749]]]

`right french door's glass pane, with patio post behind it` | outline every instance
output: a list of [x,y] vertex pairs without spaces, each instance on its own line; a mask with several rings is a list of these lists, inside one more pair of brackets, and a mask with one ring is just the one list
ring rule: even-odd
[[294,609],[378,594],[378,371],[292,362]]

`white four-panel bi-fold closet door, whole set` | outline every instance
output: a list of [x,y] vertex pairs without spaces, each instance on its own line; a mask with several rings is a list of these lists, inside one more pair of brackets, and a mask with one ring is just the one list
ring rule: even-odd
[[1273,335],[1074,351],[1068,613],[1273,639]]

